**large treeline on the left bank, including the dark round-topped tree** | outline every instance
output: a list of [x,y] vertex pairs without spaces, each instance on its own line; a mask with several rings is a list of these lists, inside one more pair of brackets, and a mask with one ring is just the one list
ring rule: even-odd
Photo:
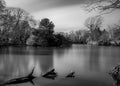
[[48,18],[39,22],[21,8],[7,7],[0,0],[0,45],[34,45],[62,47],[71,42],[63,34],[54,32],[54,23]]

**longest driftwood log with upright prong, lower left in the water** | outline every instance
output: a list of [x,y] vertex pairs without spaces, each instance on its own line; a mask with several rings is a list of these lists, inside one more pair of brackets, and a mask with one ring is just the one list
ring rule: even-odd
[[34,85],[33,79],[36,77],[33,76],[33,72],[34,72],[34,68],[29,75],[27,75],[25,77],[8,80],[5,83],[3,83],[2,86],[10,85],[10,84],[21,84],[21,83],[26,83],[26,82],[30,82],[31,84]]

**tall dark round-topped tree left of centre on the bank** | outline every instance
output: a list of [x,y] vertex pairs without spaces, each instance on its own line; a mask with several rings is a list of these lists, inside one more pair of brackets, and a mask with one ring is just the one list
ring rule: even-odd
[[48,18],[44,18],[40,21],[39,28],[33,32],[36,36],[37,45],[53,46],[54,26],[53,22]]

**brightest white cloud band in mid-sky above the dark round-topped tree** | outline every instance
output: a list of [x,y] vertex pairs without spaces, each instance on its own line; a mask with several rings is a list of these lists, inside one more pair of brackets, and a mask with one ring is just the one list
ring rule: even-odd
[[90,15],[95,13],[87,13],[82,10],[80,5],[59,7],[47,9],[33,13],[35,19],[49,18],[55,24],[56,31],[70,31],[84,27],[84,21]]

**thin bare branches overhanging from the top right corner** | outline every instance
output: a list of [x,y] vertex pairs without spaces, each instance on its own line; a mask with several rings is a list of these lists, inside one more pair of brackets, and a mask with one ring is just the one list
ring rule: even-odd
[[99,10],[100,12],[105,12],[110,10],[107,12],[110,13],[116,9],[120,9],[120,0],[93,0],[86,6],[88,11]]

